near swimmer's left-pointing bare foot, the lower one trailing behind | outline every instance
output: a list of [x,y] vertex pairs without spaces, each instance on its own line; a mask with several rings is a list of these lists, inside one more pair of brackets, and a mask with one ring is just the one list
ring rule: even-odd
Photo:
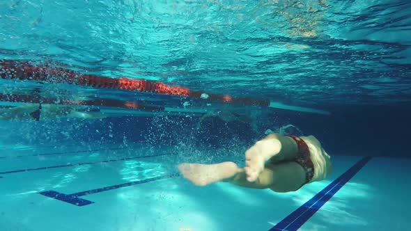
[[178,170],[196,186],[206,186],[233,177],[240,172],[234,162],[219,164],[180,164]]

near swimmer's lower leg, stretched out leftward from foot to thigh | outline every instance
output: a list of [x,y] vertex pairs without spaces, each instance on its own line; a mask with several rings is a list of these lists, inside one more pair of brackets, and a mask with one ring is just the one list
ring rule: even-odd
[[245,169],[239,168],[233,162],[180,164],[178,169],[187,180],[197,186],[206,186],[215,182],[229,182],[251,189],[288,192],[299,189],[305,182],[304,169],[295,162],[267,164],[254,182],[249,182]]

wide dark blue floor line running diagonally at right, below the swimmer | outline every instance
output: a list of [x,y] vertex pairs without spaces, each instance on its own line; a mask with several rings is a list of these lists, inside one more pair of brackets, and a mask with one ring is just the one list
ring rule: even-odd
[[273,230],[287,230],[294,231],[298,230],[304,223],[306,223],[313,214],[315,214],[320,207],[323,207],[325,203],[334,196],[334,194],[339,191],[355,174],[359,172],[369,161],[371,157],[364,157],[359,160],[354,166],[343,173],[340,177],[334,180],[331,184],[325,187],[322,191],[313,196],[311,200],[307,201],[284,218],[282,221],[277,223],[270,231]]

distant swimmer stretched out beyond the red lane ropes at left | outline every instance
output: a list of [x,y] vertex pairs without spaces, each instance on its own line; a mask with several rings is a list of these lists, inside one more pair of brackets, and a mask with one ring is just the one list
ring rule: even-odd
[[57,118],[105,118],[100,110],[82,110],[75,106],[54,104],[24,104],[13,108],[0,108],[0,120],[55,120]]

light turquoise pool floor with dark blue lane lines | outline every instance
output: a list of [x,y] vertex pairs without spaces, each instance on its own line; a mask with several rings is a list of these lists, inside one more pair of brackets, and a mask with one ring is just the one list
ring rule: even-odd
[[193,186],[176,171],[192,157],[173,148],[1,148],[2,231],[407,230],[411,215],[405,158],[373,157],[353,171],[364,157],[332,156],[327,180],[274,193]]

